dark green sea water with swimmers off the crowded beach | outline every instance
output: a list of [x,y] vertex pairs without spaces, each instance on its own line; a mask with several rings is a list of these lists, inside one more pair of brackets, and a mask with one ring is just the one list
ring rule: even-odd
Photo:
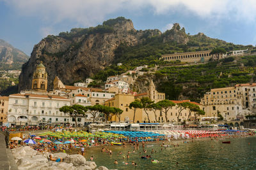
[[[230,141],[224,144],[222,141]],[[179,144],[179,146],[173,145]],[[229,138],[229,139],[198,139],[188,143],[183,141],[164,141],[166,147],[159,143],[147,143],[143,152],[142,145],[138,151],[133,152],[132,146],[105,146],[113,154],[102,153],[100,147],[86,150],[86,160],[93,161],[97,166],[108,169],[256,169],[256,137]],[[154,153],[152,152],[154,149]],[[122,155],[118,155],[122,152]],[[127,159],[127,153],[129,159]],[[141,153],[140,153],[141,152]],[[141,156],[150,155],[158,163],[150,159],[141,159]],[[125,157],[125,159],[124,159]],[[115,159],[118,164],[115,165]],[[134,161],[137,166],[132,166]]]

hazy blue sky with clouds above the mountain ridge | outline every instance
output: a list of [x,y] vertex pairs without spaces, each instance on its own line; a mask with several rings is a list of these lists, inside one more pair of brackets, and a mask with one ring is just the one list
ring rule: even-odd
[[49,34],[120,16],[138,30],[163,32],[179,23],[189,34],[256,44],[255,0],[0,0],[0,39],[30,56]]

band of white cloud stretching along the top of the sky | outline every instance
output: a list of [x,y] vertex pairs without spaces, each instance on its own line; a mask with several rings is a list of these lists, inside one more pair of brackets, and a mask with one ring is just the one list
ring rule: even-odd
[[102,22],[117,11],[152,10],[155,15],[179,13],[211,19],[248,20],[256,17],[255,0],[0,0],[19,15],[34,16],[53,25],[70,20],[84,27]]

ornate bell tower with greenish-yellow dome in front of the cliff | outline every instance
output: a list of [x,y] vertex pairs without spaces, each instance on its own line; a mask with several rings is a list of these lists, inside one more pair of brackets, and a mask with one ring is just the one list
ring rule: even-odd
[[33,73],[32,90],[47,91],[47,72],[42,62],[36,67]]

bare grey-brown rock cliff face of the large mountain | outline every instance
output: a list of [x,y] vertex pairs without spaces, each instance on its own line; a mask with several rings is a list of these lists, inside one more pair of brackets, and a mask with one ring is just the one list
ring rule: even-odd
[[[180,32],[178,26],[176,24],[163,41],[187,43],[186,33],[173,36]],[[44,62],[49,74],[48,89],[52,89],[55,76],[65,84],[84,80],[109,66],[115,60],[115,50],[120,44],[134,46],[147,38],[161,35],[157,29],[137,31],[131,20],[118,17],[97,27],[76,28],[58,36],[47,36],[34,46],[31,58],[22,66],[19,90],[31,88],[33,71],[40,61]]]

